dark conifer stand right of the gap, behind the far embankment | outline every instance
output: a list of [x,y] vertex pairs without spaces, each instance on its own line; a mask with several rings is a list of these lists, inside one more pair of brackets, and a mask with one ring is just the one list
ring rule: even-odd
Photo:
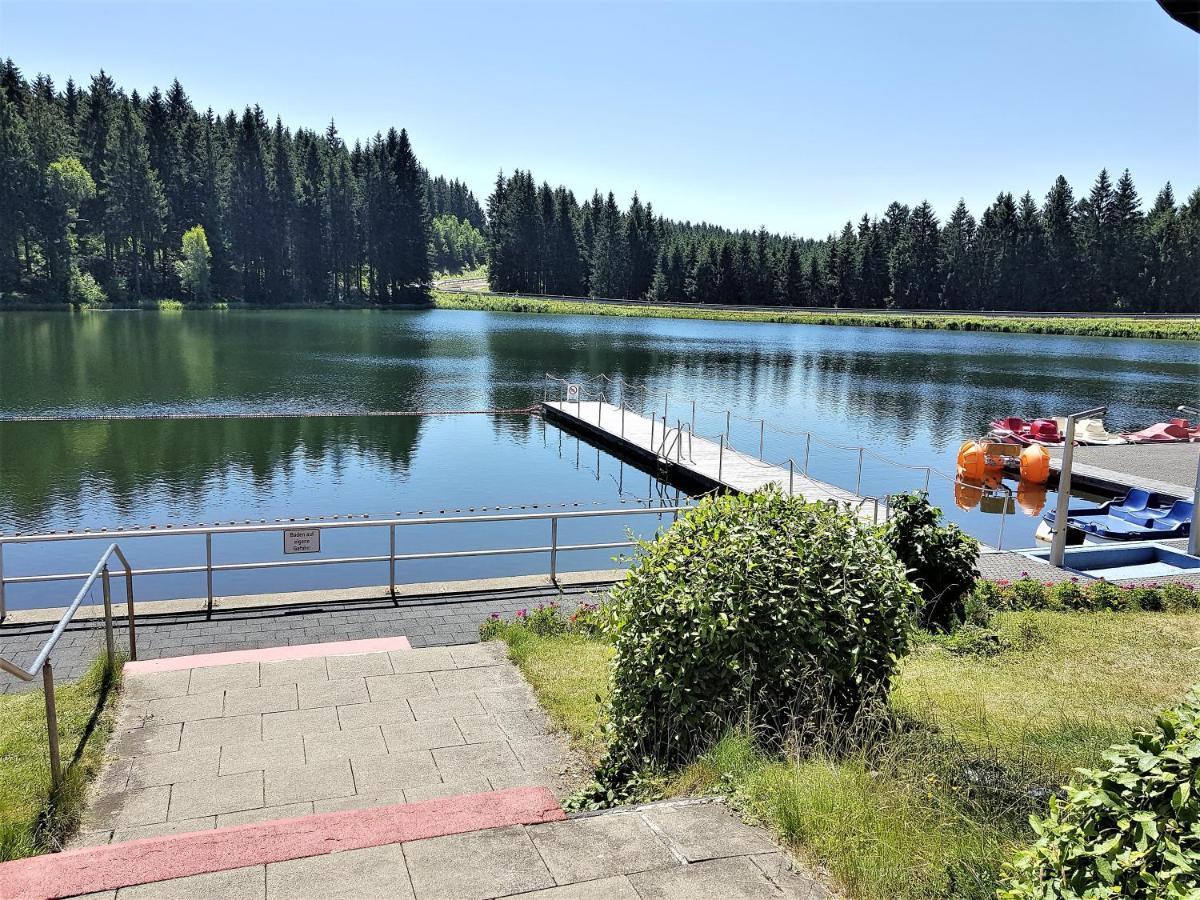
[[1001,193],[978,221],[960,200],[893,203],[814,241],[672,222],[634,197],[580,204],[528,172],[488,198],[494,290],[672,302],[848,308],[1200,312],[1200,188],[1168,184],[1148,212],[1133,178],[1100,172],[1079,199],[1060,176],[1039,204]]

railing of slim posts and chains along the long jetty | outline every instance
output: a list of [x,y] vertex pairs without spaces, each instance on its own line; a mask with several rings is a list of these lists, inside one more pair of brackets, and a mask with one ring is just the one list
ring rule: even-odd
[[[575,385],[575,395],[570,396],[570,385],[572,385],[572,384]],[[625,430],[625,410],[629,407],[629,400],[630,400],[630,397],[635,397],[635,398],[638,400],[638,403],[637,403],[637,408],[638,409],[646,408],[646,409],[650,410],[649,418],[650,418],[650,422],[652,422],[652,442],[650,442],[652,446],[654,446],[654,436],[658,433],[656,430],[654,430],[654,428],[658,427],[655,424],[659,422],[659,421],[661,421],[662,437],[661,437],[661,440],[659,442],[658,446],[655,448],[655,452],[656,452],[656,455],[660,458],[670,461],[671,457],[666,452],[666,450],[667,450],[667,432],[668,432],[667,419],[668,419],[668,416],[671,414],[671,396],[670,396],[668,391],[661,391],[661,394],[660,394],[659,391],[650,390],[647,385],[635,385],[635,384],[628,382],[620,374],[610,378],[607,374],[601,373],[601,374],[598,374],[598,376],[592,376],[590,378],[587,378],[587,379],[582,379],[580,382],[569,382],[568,379],[562,378],[562,377],[556,376],[556,374],[552,374],[550,372],[546,373],[546,390],[544,392],[544,396],[546,397],[546,400],[550,400],[553,394],[557,394],[558,398],[559,398],[559,402],[596,402],[596,401],[599,401],[600,403],[613,403],[613,404],[616,404],[614,400],[610,400],[610,392],[612,392],[613,395],[616,395],[617,392],[619,392],[619,396],[620,396],[619,409],[620,409],[620,433],[622,433],[622,437],[624,437],[624,430]],[[662,410],[661,415],[659,415],[659,413],[656,412],[658,408],[659,408],[659,397],[660,396],[661,396],[661,410]],[[740,415],[738,413],[734,413],[731,409],[715,409],[715,408],[712,408],[712,407],[706,407],[703,404],[697,403],[696,400],[695,400],[695,397],[689,397],[689,398],[683,400],[683,401],[680,401],[679,398],[676,398],[676,400],[677,400],[677,403],[678,402],[683,402],[685,404],[685,408],[690,408],[690,419],[686,419],[686,420],[685,419],[679,419],[677,421],[677,430],[682,432],[685,428],[686,433],[688,433],[689,440],[691,439],[692,436],[696,436],[696,437],[708,438],[708,439],[710,439],[710,440],[713,440],[714,443],[718,444],[718,448],[719,448],[718,449],[718,454],[719,454],[719,456],[718,456],[718,481],[721,480],[721,475],[724,474],[724,463],[725,463],[725,454],[726,454],[726,451],[731,451],[731,452],[732,451],[737,451],[737,452],[739,452],[739,455],[742,457],[742,462],[748,462],[750,464],[754,464],[755,463],[755,457],[757,457],[758,462],[762,463],[764,467],[769,467],[769,468],[773,468],[773,469],[784,469],[784,468],[786,468],[787,472],[788,472],[788,493],[796,493],[796,490],[794,490],[796,470],[797,470],[797,468],[799,468],[799,472],[800,472],[800,474],[804,478],[810,478],[809,473],[810,473],[810,462],[812,460],[812,445],[814,445],[814,443],[816,443],[816,444],[818,444],[821,446],[824,446],[824,448],[827,448],[829,450],[836,450],[836,451],[841,451],[841,452],[853,454],[857,457],[856,458],[854,487],[853,487],[853,491],[852,491],[853,498],[850,499],[848,502],[852,505],[857,504],[859,509],[862,509],[862,505],[864,503],[872,503],[874,506],[875,506],[874,514],[872,514],[872,520],[876,521],[876,522],[880,521],[881,512],[882,512],[882,520],[887,521],[888,510],[890,508],[889,498],[890,498],[892,493],[898,493],[898,492],[889,492],[889,493],[887,493],[887,494],[884,494],[882,497],[870,497],[870,496],[864,496],[863,494],[863,464],[864,464],[864,461],[866,458],[876,460],[876,461],[882,462],[883,464],[886,464],[888,467],[892,467],[892,468],[905,469],[905,470],[908,470],[908,472],[918,473],[918,475],[923,475],[922,490],[925,493],[929,493],[930,481],[935,476],[938,478],[938,479],[942,479],[944,481],[948,481],[950,484],[950,486],[952,486],[952,490],[956,485],[958,486],[962,486],[962,487],[968,487],[968,488],[972,488],[972,490],[980,488],[980,485],[976,485],[976,484],[971,484],[971,482],[967,482],[967,481],[962,481],[956,475],[949,475],[949,474],[947,474],[944,472],[941,472],[940,469],[932,468],[931,466],[913,466],[913,464],[910,464],[910,463],[900,462],[899,460],[894,460],[894,458],[890,458],[888,456],[884,456],[884,455],[882,455],[880,452],[876,452],[875,450],[872,450],[870,448],[866,448],[866,446],[838,444],[838,443],[835,443],[833,440],[829,440],[828,438],[824,438],[821,434],[817,434],[815,432],[811,432],[811,431],[796,431],[796,430],[792,430],[792,428],[785,428],[784,426],[776,425],[775,422],[768,422],[764,418],[745,416],[745,415]],[[712,414],[718,415],[718,416],[724,416],[725,418],[725,428],[724,428],[724,431],[721,431],[721,432],[719,432],[716,434],[704,434],[704,433],[701,433],[700,431],[697,431],[696,430],[696,412],[697,410],[703,410],[703,412],[712,413]],[[599,422],[599,416],[600,416],[600,412],[598,410],[598,421],[596,421],[598,426],[600,424]],[[748,451],[737,450],[737,448],[733,446],[733,443],[732,443],[732,430],[733,430],[733,420],[734,419],[739,419],[739,420],[745,421],[745,422],[748,422],[750,425],[757,425],[758,426],[758,451],[757,451],[756,455],[751,454],[751,452],[748,452]],[[776,432],[779,434],[788,436],[791,438],[796,438],[796,439],[803,438],[804,439],[804,454],[802,456],[802,461],[803,462],[799,464],[799,467],[797,466],[797,462],[796,462],[796,460],[793,457],[788,457],[786,460],[781,460],[779,462],[773,462],[773,463],[768,463],[767,462],[767,460],[766,460],[766,440],[767,440],[767,432],[768,432],[768,430],[770,430],[773,432]],[[838,487],[838,485],[830,485],[830,486]],[[842,490],[848,490],[848,488],[842,488]],[[1004,547],[1004,520],[1006,520],[1006,517],[1008,515],[1008,506],[1010,505],[1009,500],[1012,499],[1012,491],[1008,487],[1004,487],[1004,486],[1000,486],[1000,487],[994,488],[994,490],[995,490],[995,493],[997,493],[998,496],[1002,496],[1004,498],[1004,503],[1001,505],[1000,514],[998,514],[1000,526],[998,526],[998,535],[997,535],[997,539],[996,539],[996,550],[1003,550],[1003,547]],[[881,508],[881,502],[882,502],[882,508]]]

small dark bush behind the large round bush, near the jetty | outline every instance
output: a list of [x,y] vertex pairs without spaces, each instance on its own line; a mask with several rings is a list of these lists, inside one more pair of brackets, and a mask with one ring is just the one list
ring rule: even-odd
[[942,511],[924,492],[898,494],[888,504],[883,536],[920,590],[919,622],[930,631],[949,631],[965,616],[965,602],[979,577],[979,541],[955,524],[938,524]]

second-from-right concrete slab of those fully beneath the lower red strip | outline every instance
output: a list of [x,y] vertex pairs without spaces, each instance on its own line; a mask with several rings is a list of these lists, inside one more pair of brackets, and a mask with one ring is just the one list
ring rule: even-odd
[[318,895],[322,900],[413,898],[413,886],[408,880],[401,845],[268,864],[269,900],[296,900]]

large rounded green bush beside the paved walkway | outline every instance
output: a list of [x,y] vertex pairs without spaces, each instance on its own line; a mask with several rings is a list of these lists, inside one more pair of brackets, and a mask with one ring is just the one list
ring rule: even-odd
[[734,719],[767,738],[848,720],[887,690],[917,601],[848,511],[775,490],[706,498],[613,589],[606,770],[686,762]]

